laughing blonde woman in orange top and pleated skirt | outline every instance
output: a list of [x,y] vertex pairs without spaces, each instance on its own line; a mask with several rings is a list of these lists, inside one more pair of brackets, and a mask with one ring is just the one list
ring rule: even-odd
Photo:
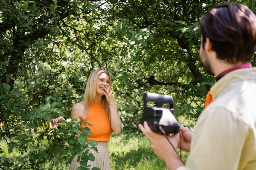
[[[58,124],[62,116],[52,119],[53,124]],[[95,161],[88,161],[87,165],[98,167],[101,170],[110,170],[110,158],[108,152],[108,142],[112,132],[118,135],[122,128],[122,123],[117,113],[116,100],[111,91],[111,77],[107,71],[98,69],[93,71],[87,81],[84,92],[84,100],[76,103],[72,107],[71,119],[77,119],[82,124],[88,122],[92,137],[87,140],[95,140],[98,143],[98,151],[90,150],[95,156]],[[87,125],[81,125],[88,127]],[[70,170],[76,170],[80,166],[77,163],[77,156],[71,162]]]

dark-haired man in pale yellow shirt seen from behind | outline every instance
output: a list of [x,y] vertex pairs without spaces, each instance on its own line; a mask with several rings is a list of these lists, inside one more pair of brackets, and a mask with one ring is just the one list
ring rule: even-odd
[[[256,16],[247,6],[227,3],[203,16],[200,29],[200,57],[217,82],[194,132],[181,125],[181,139],[169,136],[174,150],[147,122],[139,127],[169,170],[255,170],[256,68],[250,60],[256,48]],[[186,166],[176,153],[180,140],[182,150],[190,151]]]

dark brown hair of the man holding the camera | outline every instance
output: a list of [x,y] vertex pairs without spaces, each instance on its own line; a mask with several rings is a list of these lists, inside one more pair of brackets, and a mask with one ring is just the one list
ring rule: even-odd
[[200,21],[203,36],[212,42],[217,58],[229,63],[250,62],[256,48],[256,16],[239,3],[213,7]]

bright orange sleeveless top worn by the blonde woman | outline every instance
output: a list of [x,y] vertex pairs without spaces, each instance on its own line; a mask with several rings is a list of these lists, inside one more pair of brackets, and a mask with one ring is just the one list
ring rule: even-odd
[[109,142],[111,133],[113,132],[108,116],[105,115],[102,102],[93,102],[88,110],[88,114],[82,122],[92,124],[81,125],[81,127],[89,127],[92,136],[88,136],[88,141],[95,140],[97,142]]

